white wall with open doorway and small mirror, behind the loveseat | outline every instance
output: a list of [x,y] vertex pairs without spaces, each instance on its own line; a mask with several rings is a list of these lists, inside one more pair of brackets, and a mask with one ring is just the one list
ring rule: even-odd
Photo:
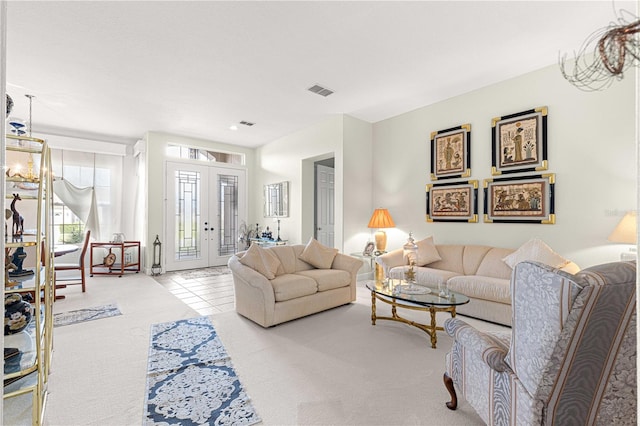
[[334,157],[335,247],[362,251],[370,238],[371,135],[371,124],[335,115],[259,148],[252,201],[260,207],[254,225],[271,220],[262,217],[262,186],[289,181],[289,217],[281,221],[280,236],[290,244],[305,244],[314,226],[313,163]]

